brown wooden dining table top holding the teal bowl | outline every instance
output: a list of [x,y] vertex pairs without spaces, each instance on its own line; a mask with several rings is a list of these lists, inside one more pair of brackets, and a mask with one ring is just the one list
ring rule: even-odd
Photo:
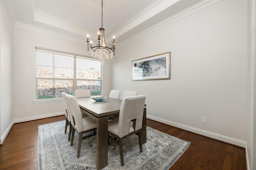
[[120,112],[122,100],[106,98],[102,102],[96,102],[90,97],[76,98],[81,109],[100,118]]

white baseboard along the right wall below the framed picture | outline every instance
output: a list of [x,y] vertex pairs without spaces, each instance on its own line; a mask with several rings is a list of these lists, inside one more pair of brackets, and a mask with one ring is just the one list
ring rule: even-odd
[[180,123],[176,123],[176,122],[173,122],[173,121],[168,121],[168,120],[161,119],[161,118],[158,118],[158,117],[154,117],[154,116],[151,116],[151,115],[147,115],[147,118],[155,120],[155,121],[159,121],[159,122],[167,124],[167,125],[172,125],[174,127],[178,127],[180,129],[184,129],[186,131],[190,131],[190,132],[197,133],[197,134],[200,134],[200,135],[203,135],[203,136],[206,136],[206,137],[210,137],[212,139],[216,139],[216,140],[219,140],[219,141],[230,143],[232,145],[236,145],[236,146],[239,146],[239,147],[247,148],[246,141],[241,141],[239,139],[234,139],[232,137],[227,137],[227,136],[220,135],[220,134],[217,134],[217,133],[212,133],[212,132],[205,131],[205,130],[202,130],[202,129],[190,127],[190,126],[187,126],[187,125],[182,125]]

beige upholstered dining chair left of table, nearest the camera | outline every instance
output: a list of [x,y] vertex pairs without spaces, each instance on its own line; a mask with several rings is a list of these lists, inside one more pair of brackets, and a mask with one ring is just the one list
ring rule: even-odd
[[[70,146],[73,145],[74,133],[76,131],[79,135],[78,148],[77,148],[77,158],[79,158],[82,140],[96,135],[95,130],[97,127],[97,123],[90,117],[82,118],[80,107],[74,96],[66,94],[65,97],[66,97],[66,103],[68,107],[68,113],[70,113],[71,115],[72,133],[71,133]],[[83,137],[84,133],[87,133],[90,131],[94,131],[94,133]]]

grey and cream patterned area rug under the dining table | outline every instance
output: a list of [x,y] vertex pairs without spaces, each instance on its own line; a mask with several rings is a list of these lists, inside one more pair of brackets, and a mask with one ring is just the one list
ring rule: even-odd
[[[80,158],[76,158],[78,134],[70,146],[65,121],[38,127],[40,170],[95,170],[96,136],[82,141]],[[119,147],[110,141],[108,166],[104,170],[168,170],[189,147],[190,142],[147,127],[147,142],[140,152],[138,136],[123,141],[124,166],[121,166]]]

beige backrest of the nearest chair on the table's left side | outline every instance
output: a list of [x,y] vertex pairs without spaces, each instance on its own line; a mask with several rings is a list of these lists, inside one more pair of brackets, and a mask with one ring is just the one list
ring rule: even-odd
[[82,113],[76,98],[72,95],[66,94],[66,104],[68,113],[70,114],[71,124],[77,129],[78,133],[83,131]]

